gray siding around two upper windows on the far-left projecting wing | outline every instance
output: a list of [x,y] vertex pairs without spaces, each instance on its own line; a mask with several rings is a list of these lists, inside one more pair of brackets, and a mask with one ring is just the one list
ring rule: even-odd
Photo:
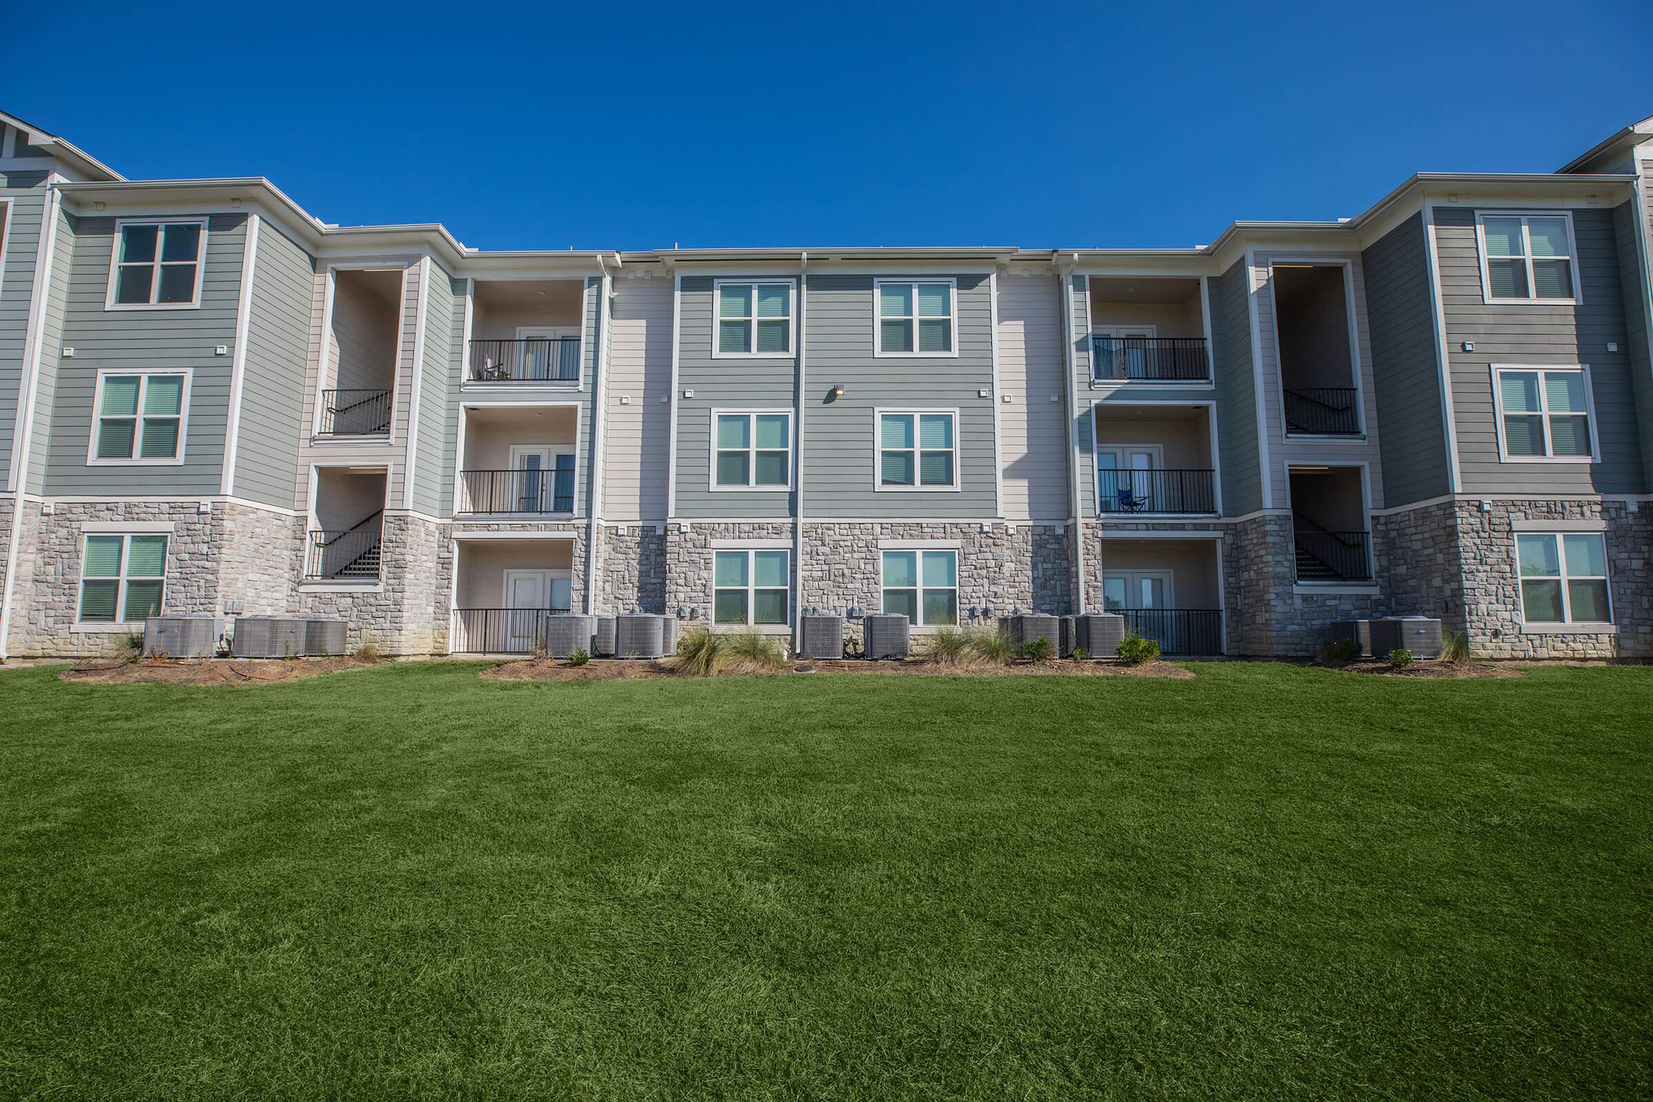
[[[109,311],[114,218],[71,218],[63,347],[58,365],[43,489],[48,494],[215,494],[223,477],[230,403],[230,355],[240,306],[245,215],[213,215],[207,226],[207,271],[198,309]],[[98,372],[192,368],[183,463],[179,466],[88,466]]]

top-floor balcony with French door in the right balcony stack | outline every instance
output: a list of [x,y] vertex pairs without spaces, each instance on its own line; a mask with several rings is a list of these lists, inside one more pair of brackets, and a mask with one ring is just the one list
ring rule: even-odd
[[1091,382],[1207,383],[1198,279],[1091,278]]

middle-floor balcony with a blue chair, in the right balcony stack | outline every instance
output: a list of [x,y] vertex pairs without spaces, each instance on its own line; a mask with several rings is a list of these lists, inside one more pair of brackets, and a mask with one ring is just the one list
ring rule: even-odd
[[1103,517],[1218,512],[1210,405],[1096,405],[1096,512]]

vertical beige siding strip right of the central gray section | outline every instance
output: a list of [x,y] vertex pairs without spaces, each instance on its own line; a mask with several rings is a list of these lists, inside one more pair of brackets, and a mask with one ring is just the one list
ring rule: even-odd
[[998,446],[1007,520],[1068,515],[1065,370],[1061,284],[1051,276],[1000,276]]

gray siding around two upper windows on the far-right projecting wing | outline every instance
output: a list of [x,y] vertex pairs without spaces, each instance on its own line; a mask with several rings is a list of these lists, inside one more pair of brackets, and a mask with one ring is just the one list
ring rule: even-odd
[[[1474,210],[1435,208],[1458,464],[1466,494],[1638,494],[1646,487],[1613,213],[1572,213],[1582,302],[1488,306],[1481,294]],[[1463,350],[1466,340],[1474,352]],[[1608,352],[1608,344],[1617,344],[1618,352]],[[1493,363],[1589,363],[1602,461],[1499,463]]]

